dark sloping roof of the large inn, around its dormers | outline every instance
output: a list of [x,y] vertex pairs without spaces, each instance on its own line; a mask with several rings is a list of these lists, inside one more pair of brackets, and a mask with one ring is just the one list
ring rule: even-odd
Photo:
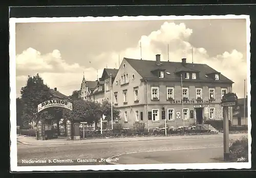
[[[165,79],[170,80],[179,80],[180,77],[175,73],[178,69],[187,69],[189,71],[199,71],[200,80],[205,81],[214,81],[209,77],[206,77],[207,73],[219,73],[218,71],[212,69],[206,64],[195,64],[195,63],[186,63],[182,64],[181,62],[167,62],[161,61],[161,67],[156,64],[156,61],[150,60],[140,60],[140,59],[129,59],[124,58],[140,75],[143,79],[159,79],[152,71],[157,70],[159,68],[165,69],[165,72],[169,72],[170,74],[165,73]],[[220,74],[218,82],[229,82],[233,83],[231,80],[226,78],[224,75]]]

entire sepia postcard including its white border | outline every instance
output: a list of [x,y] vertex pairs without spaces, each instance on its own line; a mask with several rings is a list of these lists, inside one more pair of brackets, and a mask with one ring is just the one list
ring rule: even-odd
[[9,21],[11,171],[251,168],[248,15]]

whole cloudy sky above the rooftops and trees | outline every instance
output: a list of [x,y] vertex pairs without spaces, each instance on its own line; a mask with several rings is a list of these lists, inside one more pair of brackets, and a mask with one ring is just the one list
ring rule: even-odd
[[83,72],[95,81],[124,57],[140,59],[140,43],[143,60],[161,54],[167,61],[169,45],[169,61],[191,62],[193,48],[194,63],[221,72],[244,97],[245,19],[16,23],[16,96],[36,73],[50,88],[71,95],[80,89]]

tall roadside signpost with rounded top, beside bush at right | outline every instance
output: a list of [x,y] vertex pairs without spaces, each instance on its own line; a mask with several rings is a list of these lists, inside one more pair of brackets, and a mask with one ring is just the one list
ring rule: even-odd
[[224,161],[229,161],[229,125],[228,120],[230,113],[228,112],[229,107],[237,105],[238,97],[235,93],[227,93],[221,99],[221,106],[223,107],[223,145],[224,145]]

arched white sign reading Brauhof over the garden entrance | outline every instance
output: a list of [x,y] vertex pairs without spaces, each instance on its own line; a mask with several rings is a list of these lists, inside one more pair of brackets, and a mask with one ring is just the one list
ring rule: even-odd
[[69,110],[72,110],[72,103],[66,100],[61,100],[61,99],[51,99],[48,101],[44,101],[40,103],[37,106],[37,111],[40,112],[44,109],[51,108],[51,107],[62,107],[62,108],[67,108]]

